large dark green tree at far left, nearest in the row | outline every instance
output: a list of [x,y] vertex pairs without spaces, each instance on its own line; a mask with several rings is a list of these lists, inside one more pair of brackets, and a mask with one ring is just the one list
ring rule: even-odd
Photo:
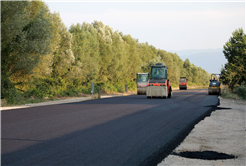
[[32,71],[50,51],[52,27],[47,6],[32,8],[29,0],[0,1],[0,97],[10,99],[15,87],[10,77]]

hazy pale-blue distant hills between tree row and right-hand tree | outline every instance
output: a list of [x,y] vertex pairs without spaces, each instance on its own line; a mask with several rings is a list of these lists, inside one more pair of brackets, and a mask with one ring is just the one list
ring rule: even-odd
[[184,61],[186,58],[197,67],[201,67],[208,73],[220,73],[221,65],[225,65],[227,60],[223,54],[223,49],[201,49],[201,50],[171,50],[177,53]]

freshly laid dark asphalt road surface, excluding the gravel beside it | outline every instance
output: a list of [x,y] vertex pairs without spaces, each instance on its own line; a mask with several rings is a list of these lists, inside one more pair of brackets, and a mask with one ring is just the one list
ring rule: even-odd
[[157,165],[218,103],[207,90],[1,111],[0,165]]

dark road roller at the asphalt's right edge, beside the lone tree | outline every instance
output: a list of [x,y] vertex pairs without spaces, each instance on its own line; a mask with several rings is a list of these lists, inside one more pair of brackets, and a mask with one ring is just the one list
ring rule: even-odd
[[[217,75],[219,76],[219,78],[217,77]],[[214,78],[212,78],[214,76]],[[217,78],[217,79],[216,79]],[[211,74],[211,80],[209,83],[209,87],[208,87],[208,94],[209,95],[220,95],[221,94],[221,85],[220,85],[220,74]]]

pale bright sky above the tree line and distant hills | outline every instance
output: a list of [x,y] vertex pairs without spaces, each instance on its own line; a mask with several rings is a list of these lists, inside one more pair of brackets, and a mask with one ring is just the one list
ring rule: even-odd
[[245,32],[245,1],[43,0],[72,24],[102,21],[163,50],[222,48],[237,28]]

